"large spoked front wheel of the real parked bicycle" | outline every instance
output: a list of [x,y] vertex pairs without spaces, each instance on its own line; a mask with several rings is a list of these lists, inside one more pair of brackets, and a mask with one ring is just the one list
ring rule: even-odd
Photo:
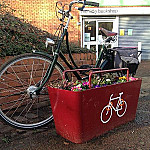
[[56,63],[51,78],[39,95],[30,91],[40,84],[52,59],[40,54],[23,54],[11,59],[0,70],[0,115],[18,128],[36,128],[53,120],[47,85],[62,81],[63,67]]

